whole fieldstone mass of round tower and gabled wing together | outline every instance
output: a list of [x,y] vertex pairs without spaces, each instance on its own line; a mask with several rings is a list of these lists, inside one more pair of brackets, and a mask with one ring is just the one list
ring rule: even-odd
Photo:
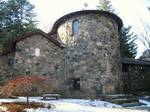
[[[78,21],[76,34],[74,20]],[[121,19],[105,11],[65,15],[56,21],[50,33],[35,33],[15,42],[14,74],[55,77],[61,82],[60,90],[67,87],[77,97],[118,93],[121,27]]]

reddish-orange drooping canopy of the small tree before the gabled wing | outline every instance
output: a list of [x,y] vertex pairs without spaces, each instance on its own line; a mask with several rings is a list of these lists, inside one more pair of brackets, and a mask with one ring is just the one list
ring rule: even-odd
[[52,93],[56,90],[55,80],[45,77],[17,77],[3,87],[2,97],[11,96],[39,96],[44,93]]

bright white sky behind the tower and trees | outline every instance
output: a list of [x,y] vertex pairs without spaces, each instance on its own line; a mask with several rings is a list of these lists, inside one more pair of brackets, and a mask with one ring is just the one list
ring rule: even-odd
[[[48,32],[50,26],[61,16],[83,10],[87,3],[87,9],[96,9],[99,0],[30,0],[35,5],[38,27]],[[111,0],[117,15],[123,20],[125,26],[131,25],[134,32],[141,32],[141,19],[150,22],[150,12],[146,7],[150,6],[150,0]],[[138,41],[138,56],[145,50]]]

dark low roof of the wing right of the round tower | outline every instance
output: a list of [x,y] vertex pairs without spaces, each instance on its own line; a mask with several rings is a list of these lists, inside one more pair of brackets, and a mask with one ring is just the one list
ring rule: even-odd
[[123,58],[121,59],[122,64],[127,65],[145,65],[150,66],[150,61],[140,60],[140,59],[132,59],[132,58]]

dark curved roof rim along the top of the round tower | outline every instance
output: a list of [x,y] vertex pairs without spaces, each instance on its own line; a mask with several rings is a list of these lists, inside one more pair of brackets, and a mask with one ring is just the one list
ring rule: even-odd
[[87,15],[87,14],[100,14],[100,15],[104,15],[106,17],[113,18],[117,22],[118,30],[120,30],[123,26],[123,22],[120,19],[120,17],[118,17],[117,15],[115,15],[113,13],[110,13],[107,11],[101,11],[101,10],[82,10],[82,11],[72,12],[70,14],[64,15],[63,17],[59,18],[53,25],[51,32],[49,32],[48,34],[51,35],[51,34],[57,33],[57,29],[59,28],[59,26],[61,24],[63,24],[66,20],[68,20],[74,16]]

